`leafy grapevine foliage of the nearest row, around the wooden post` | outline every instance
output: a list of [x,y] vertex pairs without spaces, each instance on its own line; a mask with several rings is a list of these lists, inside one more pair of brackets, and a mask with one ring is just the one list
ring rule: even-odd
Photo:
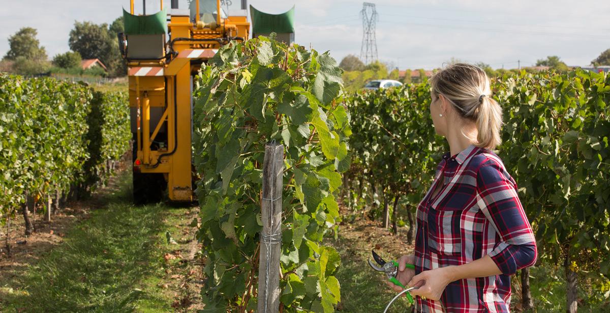
[[201,68],[193,128],[209,309],[256,307],[261,169],[275,140],[285,146],[281,305],[334,311],[339,254],[321,240],[337,229],[340,172],[350,163],[341,72],[328,53],[264,37],[229,43]]

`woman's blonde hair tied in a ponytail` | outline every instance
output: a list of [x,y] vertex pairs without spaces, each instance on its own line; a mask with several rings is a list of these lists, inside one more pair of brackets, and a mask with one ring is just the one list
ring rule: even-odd
[[502,108],[492,99],[489,78],[475,65],[448,65],[429,80],[432,93],[447,98],[458,114],[476,123],[475,145],[493,150],[501,143]]

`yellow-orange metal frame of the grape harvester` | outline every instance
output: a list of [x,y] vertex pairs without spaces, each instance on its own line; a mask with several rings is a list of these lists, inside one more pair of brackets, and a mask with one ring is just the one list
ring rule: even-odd
[[[163,1],[161,7],[163,7]],[[195,23],[188,16],[172,16],[168,31],[172,38],[185,40],[173,43],[173,50],[180,53],[184,50],[202,47],[217,49],[220,43],[202,43],[189,39],[215,39],[242,37],[248,39],[249,26],[246,17],[228,17],[221,20],[220,0],[217,0],[217,25],[199,23],[199,1],[196,6]],[[134,13],[134,0],[131,0],[131,13]],[[171,42],[171,39],[168,42]],[[129,37],[127,37],[129,41]],[[168,193],[172,201],[193,201],[192,161],[191,161],[191,63],[206,62],[188,57],[169,59],[131,61],[129,68],[149,67],[162,68],[163,76],[129,76],[129,103],[137,108],[137,160],[134,168],[142,173],[163,174],[168,183]],[[151,108],[163,108],[159,122],[151,128]],[[174,120],[177,121],[174,125]],[[163,124],[167,125],[167,147],[151,150],[151,143],[159,134]],[[152,133],[150,132],[152,129]],[[178,139],[178,142],[174,140]],[[170,153],[173,152],[173,153]],[[139,165],[136,165],[139,164]]]

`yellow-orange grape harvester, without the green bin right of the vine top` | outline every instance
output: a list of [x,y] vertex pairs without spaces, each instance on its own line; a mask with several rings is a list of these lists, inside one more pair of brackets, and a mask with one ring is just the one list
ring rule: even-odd
[[[247,40],[246,0],[193,0],[188,8],[135,15],[124,10],[121,54],[127,62],[133,134],[134,201],[192,202],[193,76],[223,45]],[[169,23],[168,23],[169,22]]]

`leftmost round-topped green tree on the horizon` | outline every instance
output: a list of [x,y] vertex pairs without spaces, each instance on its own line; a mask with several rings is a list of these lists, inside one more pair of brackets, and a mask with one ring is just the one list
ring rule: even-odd
[[4,59],[15,61],[22,56],[30,60],[46,60],[45,47],[40,46],[40,42],[36,39],[38,32],[31,27],[21,28],[19,31],[9,37],[9,51],[4,56]]

